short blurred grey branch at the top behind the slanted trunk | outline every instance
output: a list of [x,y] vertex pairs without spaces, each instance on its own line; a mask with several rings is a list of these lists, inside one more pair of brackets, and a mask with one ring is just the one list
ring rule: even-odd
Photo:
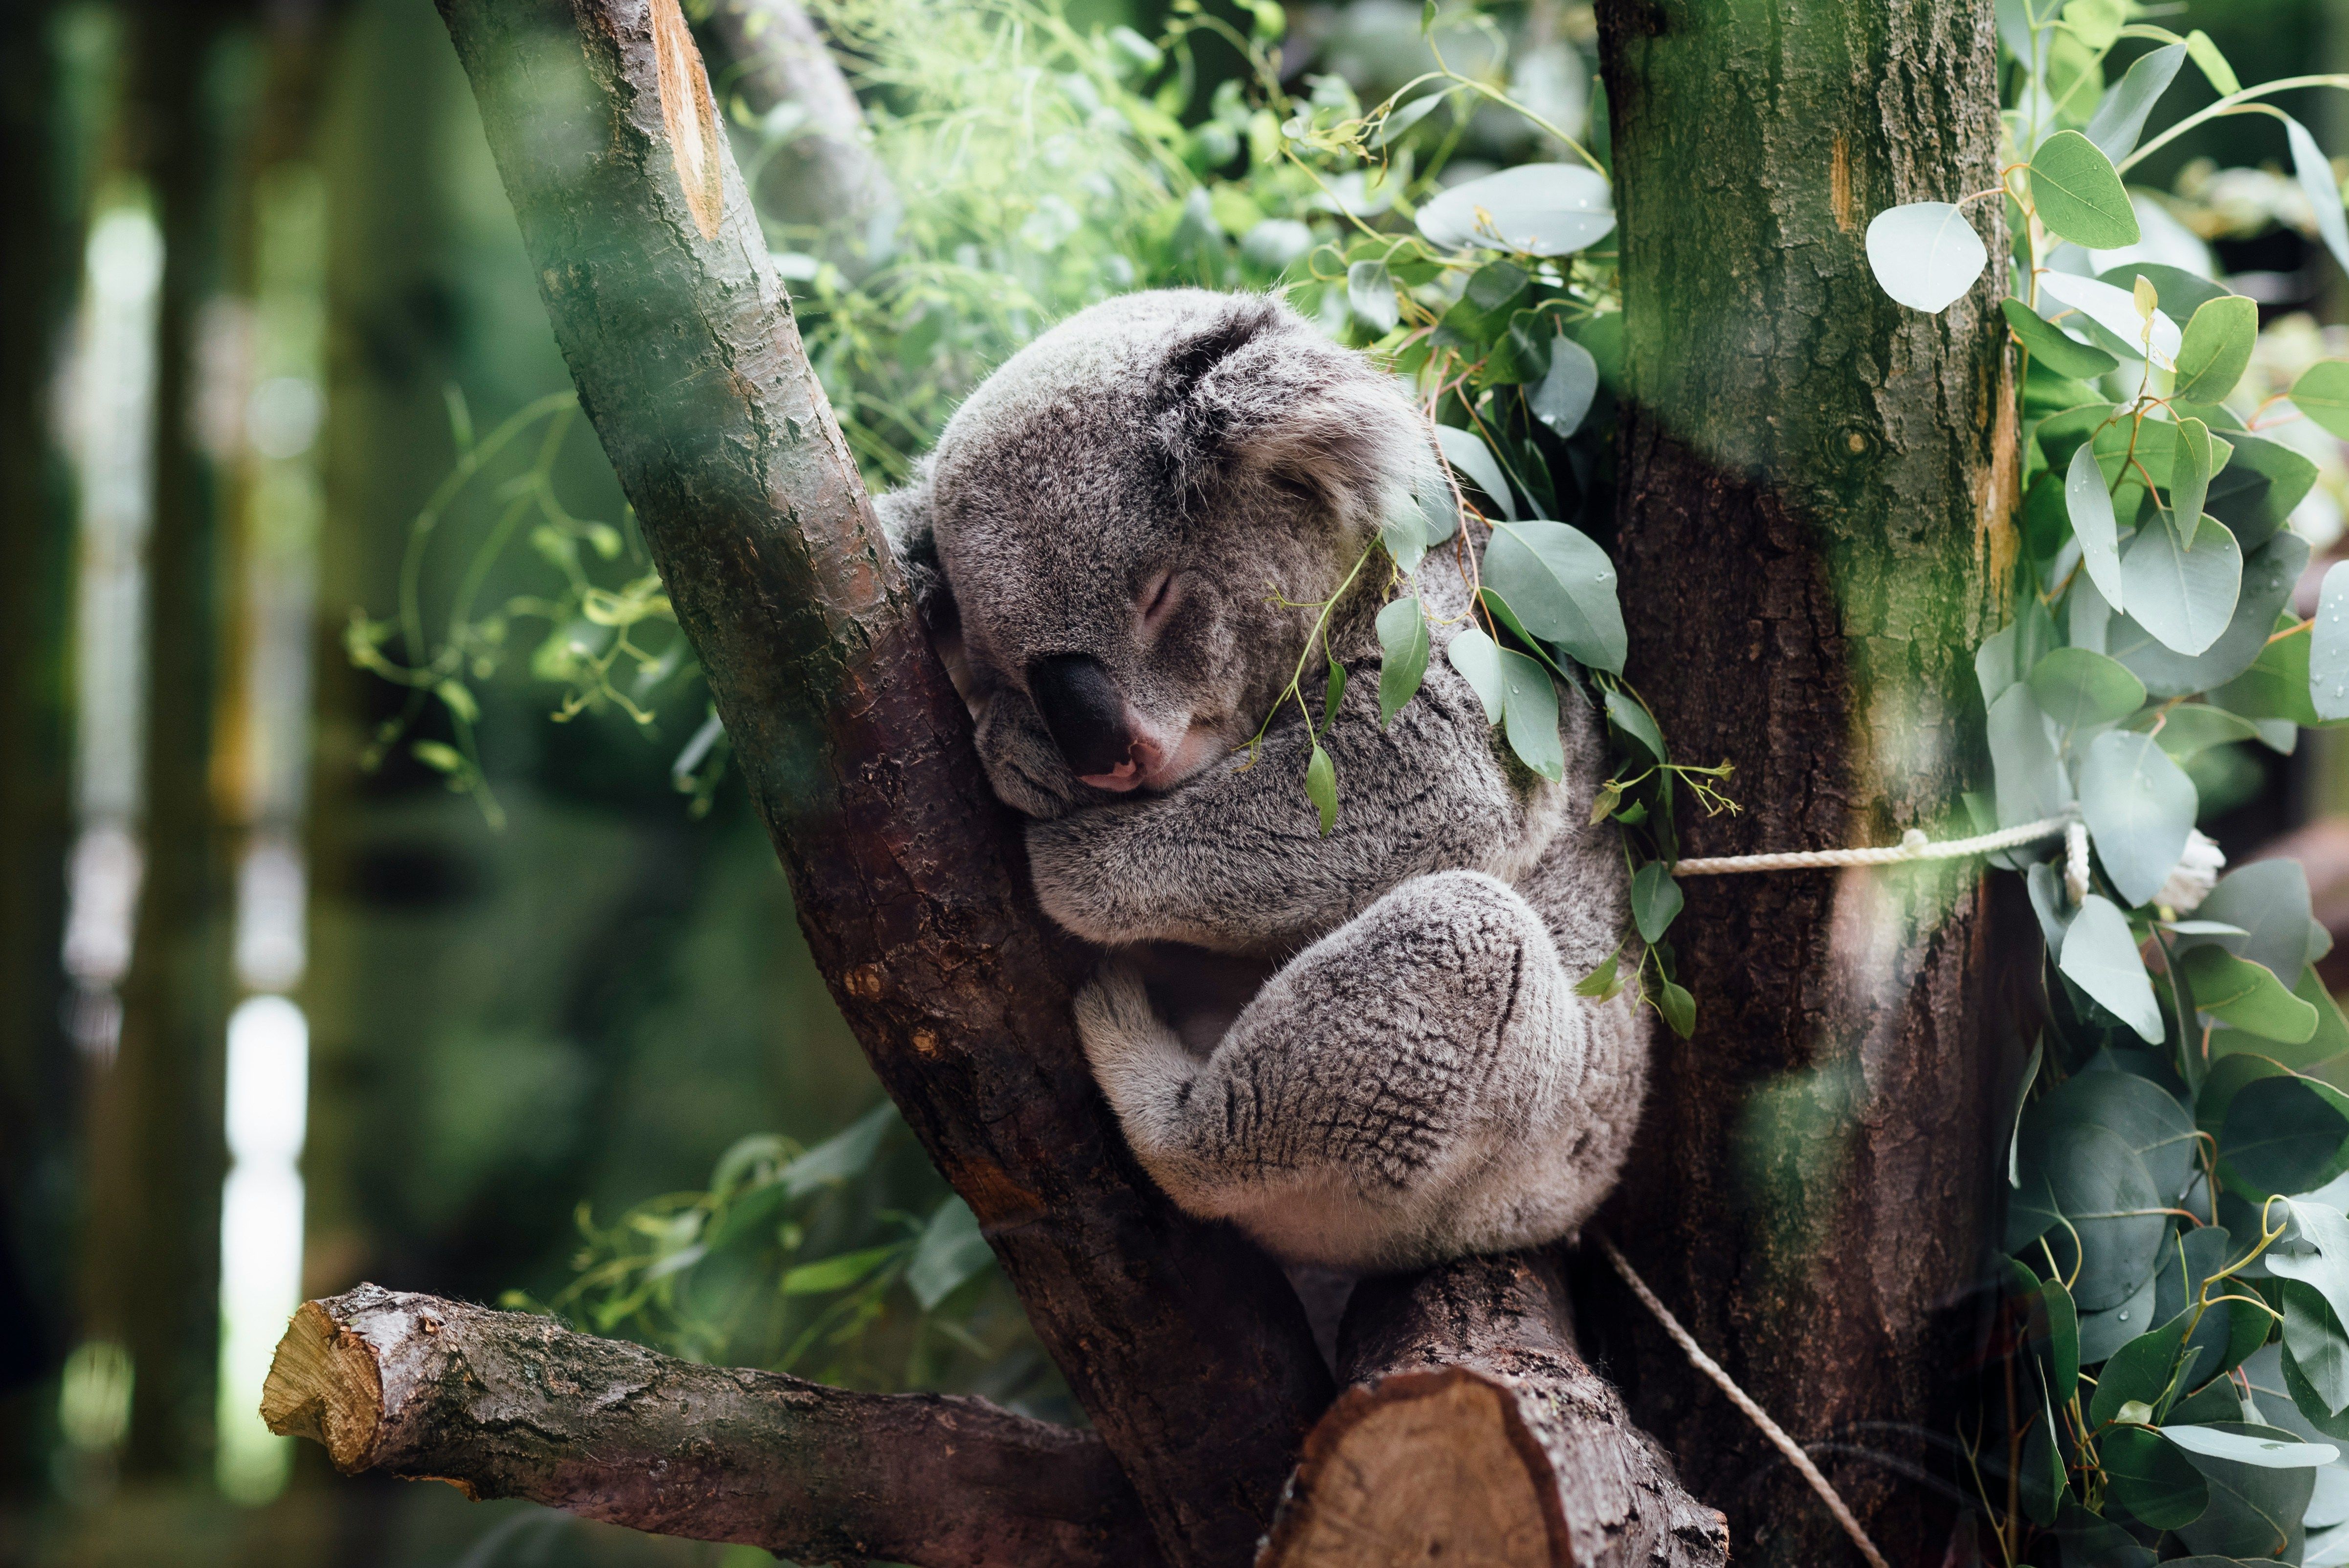
[[799,0],[716,0],[709,28],[733,61],[721,73],[754,115],[789,103],[799,124],[756,171],[759,204],[778,223],[822,230],[824,251],[860,275],[897,228],[897,183],[864,136],[864,110],[822,31]]

